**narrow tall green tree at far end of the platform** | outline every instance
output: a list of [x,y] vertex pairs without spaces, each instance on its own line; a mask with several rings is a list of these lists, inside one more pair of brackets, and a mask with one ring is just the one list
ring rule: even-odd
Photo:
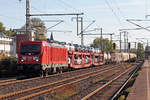
[[137,48],[137,58],[139,60],[144,60],[145,53],[144,53],[144,47],[142,43],[138,43],[138,48]]

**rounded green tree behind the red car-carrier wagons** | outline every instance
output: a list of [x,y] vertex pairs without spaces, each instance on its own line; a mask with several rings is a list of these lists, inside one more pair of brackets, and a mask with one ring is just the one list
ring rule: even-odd
[[91,44],[91,47],[101,48],[101,43],[102,43],[102,48],[103,48],[104,52],[114,52],[115,51],[113,49],[112,42],[109,41],[109,39],[107,39],[107,38],[94,39],[93,43]]

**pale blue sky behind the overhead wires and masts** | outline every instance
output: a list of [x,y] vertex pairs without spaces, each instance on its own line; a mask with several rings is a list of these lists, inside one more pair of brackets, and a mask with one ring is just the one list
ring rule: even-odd
[[[25,0],[0,0],[0,21],[7,29],[20,28],[25,23]],[[103,28],[105,33],[119,34],[119,29],[135,28],[126,19],[144,19],[150,14],[149,0],[30,0],[31,13],[81,13],[84,15],[84,27],[96,20],[89,30]],[[64,20],[63,23],[51,30],[68,30],[71,33],[54,32],[54,38],[59,41],[80,43],[80,37],[76,35],[74,16],[39,17],[42,20]],[[137,22],[147,26],[149,22]],[[46,22],[50,27],[55,23]],[[138,37],[150,37],[145,30],[128,31],[129,41],[136,41]],[[95,32],[97,33],[97,32]],[[49,37],[50,33],[47,34]],[[90,44],[95,36],[85,36],[85,44]],[[109,38],[109,36],[105,36]],[[117,36],[113,37],[118,39]]]

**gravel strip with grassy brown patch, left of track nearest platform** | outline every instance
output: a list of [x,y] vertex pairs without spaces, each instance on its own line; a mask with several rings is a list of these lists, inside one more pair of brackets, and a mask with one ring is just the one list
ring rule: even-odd
[[[124,68],[120,68],[120,69],[118,68],[117,70],[114,70],[113,72],[109,71],[101,75],[98,75],[96,77],[89,77],[87,80],[83,80],[81,82],[77,82],[75,84],[60,88],[56,91],[46,93],[39,97],[33,98],[33,100],[39,99],[39,98],[48,98],[50,100],[80,100],[81,97],[83,97],[86,93],[88,93],[88,91],[93,90],[93,86],[103,85],[104,83],[108,82],[110,79],[112,79],[119,73],[124,72],[124,70],[125,70]],[[115,74],[118,71],[119,73]],[[102,79],[102,77],[104,76],[105,78]],[[100,78],[100,79],[95,81],[97,78]],[[95,88],[96,87],[94,87],[94,89]],[[91,100],[95,100],[95,99],[91,99]]]

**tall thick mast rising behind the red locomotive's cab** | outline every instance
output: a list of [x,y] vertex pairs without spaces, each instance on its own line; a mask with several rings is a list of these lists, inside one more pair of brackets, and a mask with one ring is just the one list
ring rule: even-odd
[[26,0],[26,35],[27,40],[31,40],[31,26],[30,26],[30,2]]

